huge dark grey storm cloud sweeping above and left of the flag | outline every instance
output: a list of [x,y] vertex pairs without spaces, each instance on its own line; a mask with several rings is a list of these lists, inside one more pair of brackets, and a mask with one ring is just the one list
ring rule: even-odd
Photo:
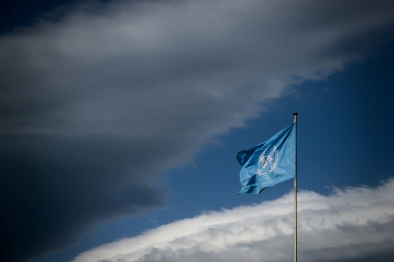
[[4,253],[163,206],[163,170],[359,58],[392,20],[391,1],[120,2],[1,36]]

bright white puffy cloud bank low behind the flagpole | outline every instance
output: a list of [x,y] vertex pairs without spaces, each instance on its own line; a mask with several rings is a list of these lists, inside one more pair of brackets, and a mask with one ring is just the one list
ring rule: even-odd
[[[391,261],[394,179],[377,188],[337,188],[328,196],[301,191],[298,197],[300,260],[375,256]],[[99,246],[73,262],[291,261],[292,212],[292,193],[258,205],[205,212]]]

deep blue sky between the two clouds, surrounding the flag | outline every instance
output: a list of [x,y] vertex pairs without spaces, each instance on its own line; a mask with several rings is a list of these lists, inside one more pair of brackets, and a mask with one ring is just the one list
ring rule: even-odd
[[[347,65],[327,80],[297,86],[295,93],[272,102],[259,118],[218,137],[186,167],[168,171],[165,183],[171,193],[167,208],[95,226],[80,243],[37,261],[67,261],[90,247],[204,211],[260,203],[288,193],[292,180],[258,196],[239,195],[240,167],[235,153],[291,124],[294,108],[300,112],[300,190],[330,194],[332,187],[379,185],[392,177],[390,148],[394,141],[388,121],[393,108],[389,88],[394,83],[390,77],[392,58],[391,52],[368,57]],[[379,138],[373,139],[376,136]]]

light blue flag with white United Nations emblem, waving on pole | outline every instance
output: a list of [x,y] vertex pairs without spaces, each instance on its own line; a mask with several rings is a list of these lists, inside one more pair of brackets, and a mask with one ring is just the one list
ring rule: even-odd
[[295,176],[295,123],[267,141],[239,151],[242,168],[239,193],[259,194],[263,189]]

